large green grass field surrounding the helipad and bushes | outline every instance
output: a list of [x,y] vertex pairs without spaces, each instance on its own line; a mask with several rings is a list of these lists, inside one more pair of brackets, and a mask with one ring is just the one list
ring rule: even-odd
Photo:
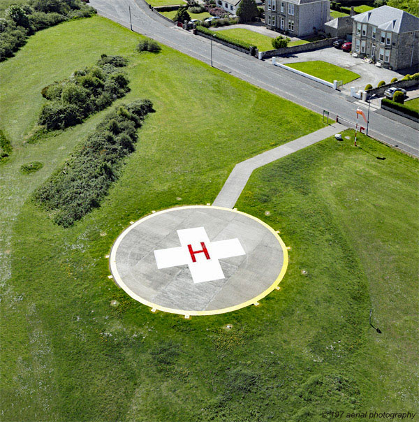
[[[211,203],[235,163],[322,126],[170,48],[138,54],[138,38],[102,17],[66,22],[0,65],[1,129],[14,146],[0,166],[1,420],[318,422],[335,409],[415,412],[419,166],[374,140],[358,135],[355,148],[352,138],[330,138],[253,174],[239,210],[291,247],[281,290],[259,307],[184,320],[152,314],[110,282],[105,254],[129,221]],[[64,229],[30,194],[107,111],[36,145],[24,139],[41,88],[103,52],[130,59],[124,102],[149,98],[156,112],[101,208]],[[22,174],[32,161],[43,168]],[[368,326],[370,308],[381,335]]]

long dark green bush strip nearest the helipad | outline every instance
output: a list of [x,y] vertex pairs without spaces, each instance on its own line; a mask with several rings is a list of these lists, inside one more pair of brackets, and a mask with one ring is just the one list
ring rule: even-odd
[[122,159],[135,150],[136,129],[147,113],[149,100],[119,106],[98,124],[67,163],[34,194],[36,203],[51,212],[57,224],[68,227],[99,206],[117,179]]

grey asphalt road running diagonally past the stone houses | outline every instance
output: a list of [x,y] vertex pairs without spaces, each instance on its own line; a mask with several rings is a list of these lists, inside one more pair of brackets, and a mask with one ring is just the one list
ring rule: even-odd
[[[175,27],[173,23],[150,10],[143,0],[91,0],[90,4],[98,10],[100,15],[128,28],[130,27],[128,7],[131,6],[134,31],[154,38],[207,64],[211,63],[210,40],[193,36],[191,32]],[[346,126],[351,127],[355,122],[356,109],[360,106],[354,103],[355,99],[341,92],[273,66],[270,60],[260,61],[219,43],[212,43],[212,57],[213,66],[221,71],[235,75],[237,78],[315,112],[322,113],[323,110],[328,110],[330,117],[334,119],[336,115],[339,115],[341,119],[344,119],[341,123]],[[390,112],[378,113],[370,110],[369,135],[419,157],[418,124],[414,124],[411,120],[393,117]]]

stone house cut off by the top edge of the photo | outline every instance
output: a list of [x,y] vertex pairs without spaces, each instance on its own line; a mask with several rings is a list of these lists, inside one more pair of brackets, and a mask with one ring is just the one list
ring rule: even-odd
[[329,15],[329,0],[265,0],[265,26],[290,36],[323,31]]

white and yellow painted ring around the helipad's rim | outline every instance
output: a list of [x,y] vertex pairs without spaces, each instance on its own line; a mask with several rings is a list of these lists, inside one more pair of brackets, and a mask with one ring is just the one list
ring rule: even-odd
[[[179,209],[188,209],[188,208],[214,208],[215,210],[224,210],[224,211],[230,211],[230,212],[237,212],[237,214],[245,215],[246,217],[249,217],[255,221],[258,221],[258,223],[262,224],[262,226],[265,226],[274,236],[277,238],[279,245],[281,245],[282,253],[284,255],[284,262],[282,263],[281,272],[279,272],[279,275],[277,279],[271,284],[270,287],[268,287],[265,291],[260,293],[258,296],[256,296],[253,299],[247,300],[246,302],[240,303],[239,305],[225,307],[221,310],[211,310],[211,311],[185,311],[185,310],[176,310],[169,307],[163,307],[160,305],[156,305],[156,303],[149,302],[148,300],[145,300],[144,298],[141,298],[136,293],[134,293],[131,289],[124,284],[122,281],[122,278],[119,276],[119,272],[117,270],[117,261],[116,261],[116,255],[117,255],[117,249],[119,244],[122,242],[122,239],[125,237],[125,235],[130,231],[132,228],[137,226],[138,224],[141,224],[142,221],[145,221],[146,219],[155,217],[159,214],[164,214],[165,212],[175,211]],[[112,274],[112,277],[115,279],[115,282],[126,292],[128,293],[131,298],[137,300],[138,302],[142,303],[143,305],[152,307],[153,310],[159,310],[163,312],[168,312],[170,314],[179,314],[184,316],[195,316],[195,315],[216,315],[216,314],[225,314],[226,312],[232,312],[242,309],[242,307],[247,307],[249,305],[255,305],[258,300],[265,298],[272,290],[274,290],[278,284],[281,282],[281,279],[284,278],[284,275],[286,273],[286,269],[288,268],[288,250],[286,249],[286,245],[284,241],[279,237],[278,233],[274,231],[274,229],[271,226],[268,226],[265,222],[262,220],[253,217],[253,215],[247,214],[246,212],[241,212],[238,210],[232,210],[231,208],[224,208],[224,207],[214,207],[210,205],[186,205],[182,207],[173,207],[168,208],[168,210],[162,210],[159,212],[154,212],[153,214],[149,214],[145,217],[142,217],[141,219],[135,221],[135,223],[131,224],[131,226],[127,227],[115,240],[114,244],[112,245],[112,248],[110,249],[110,257],[109,257],[109,268],[110,272]]]

